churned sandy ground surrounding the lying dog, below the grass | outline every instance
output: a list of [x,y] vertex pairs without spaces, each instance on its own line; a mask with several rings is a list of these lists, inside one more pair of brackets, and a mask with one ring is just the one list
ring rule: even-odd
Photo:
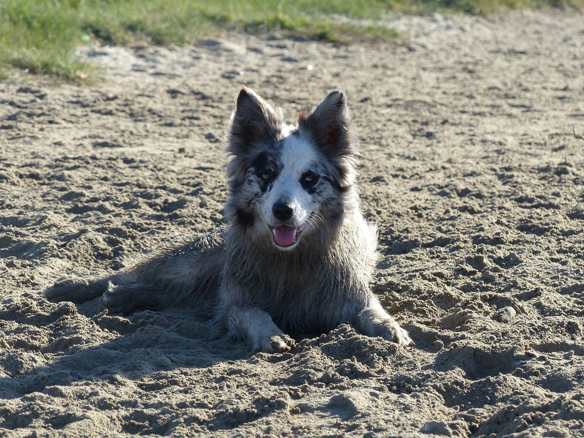
[[[0,84],[0,436],[584,434],[584,15],[391,25],[404,45],[94,47],[98,85]],[[373,287],[415,346],[341,325],[254,354],[189,310],[39,296],[221,223],[205,136],[239,84],[288,119],[346,89]]]

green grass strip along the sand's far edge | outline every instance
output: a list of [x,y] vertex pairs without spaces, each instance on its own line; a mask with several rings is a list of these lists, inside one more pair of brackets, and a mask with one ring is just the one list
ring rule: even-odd
[[[391,13],[492,13],[517,8],[584,6],[584,0],[1,0],[0,79],[11,68],[80,80],[91,66],[79,44],[187,44],[225,30],[279,30],[317,40],[391,41],[386,26],[355,25],[331,16],[382,19]],[[84,42],[85,40],[85,42]]]

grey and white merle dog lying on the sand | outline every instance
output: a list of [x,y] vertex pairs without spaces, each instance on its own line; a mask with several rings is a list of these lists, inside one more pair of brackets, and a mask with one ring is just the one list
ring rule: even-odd
[[290,336],[343,322],[412,343],[370,290],[377,228],[359,210],[359,148],[345,93],[332,91],[290,124],[242,86],[225,140],[226,225],[124,260],[110,276],[62,278],[43,296],[101,296],[113,314],[206,308],[229,336],[262,352],[289,351]]

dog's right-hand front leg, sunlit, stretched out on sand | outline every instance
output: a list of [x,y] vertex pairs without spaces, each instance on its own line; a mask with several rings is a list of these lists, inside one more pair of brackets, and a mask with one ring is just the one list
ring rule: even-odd
[[[377,300],[376,300],[377,301]],[[371,307],[364,308],[356,317],[356,328],[367,336],[381,336],[398,345],[410,345],[412,340],[408,332],[402,329],[395,319],[383,310],[381,304],[374,303]]]

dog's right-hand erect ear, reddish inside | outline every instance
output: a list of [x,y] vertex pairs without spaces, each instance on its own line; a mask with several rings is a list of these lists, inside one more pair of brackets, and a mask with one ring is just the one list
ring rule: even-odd
[[298,114],[298,128],[333,157],[358,154],[356,130],[342,90],[331,91],[310,111]]

